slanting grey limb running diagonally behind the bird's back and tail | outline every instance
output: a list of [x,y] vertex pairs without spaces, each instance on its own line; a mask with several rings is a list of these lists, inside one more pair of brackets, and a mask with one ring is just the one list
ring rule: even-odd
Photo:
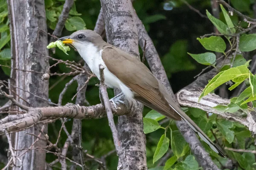
[[[137,17],[137,15],[135,16]],[[166,72],[163,68],[160,57],[157,54],[157,50],[155,49],[151,38],[148,36],[148,33],[146,32],[145,27],[143,26],[143,23],[138,17],[137,27],[139,33],[139,44],[142,49],[144,48],[144,42],[147,41],[147,46],[145,47],[145,57],[148,61],[148,65],[151,68],[152,73],[157,77],[157,79],[160,80],[160,82],[163,83],[163,85],[168,90],[169,94],[171,94],[172,99],[174,99],[174,101],[177,103],[177,99],[172,91],[171,85],[166,76]],[[213,163],[211,157],[205,151],[204,147],[197,138],[195,132],[189,127],[189,125],[187,125],[185,121],[177,121],[176,125],[179,128],[183,137],[186,139],[186,142],[189,143],[189,146],[192,152],[194,153],[196,159],[198,160],[199,164],[201,164],[201,166],[204,169],[208,168],[212,170],[217,170],[218,167]]]

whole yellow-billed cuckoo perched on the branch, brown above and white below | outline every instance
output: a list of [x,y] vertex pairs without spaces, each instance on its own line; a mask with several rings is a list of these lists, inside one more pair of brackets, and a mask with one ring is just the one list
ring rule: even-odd
[[99,64],[104,65],[107,86],[119,88],[129,101],[135,99],[142,102],[170,119],[184,119],[212,150],[225,157],[221,149],[175,104],[163,84],[136,57],[108,44],[92,30],[79,30],[59,40],[73,45],[98,78]]

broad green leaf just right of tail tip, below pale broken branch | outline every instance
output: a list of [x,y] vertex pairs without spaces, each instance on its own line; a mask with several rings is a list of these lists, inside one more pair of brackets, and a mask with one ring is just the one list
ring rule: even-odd
[[227,139],[227,142],[232,143],[235,137],[234,131],[230,130],[233,127],[233,122],[229,122],[223,119],[220,119],[216,122],[218,129]]

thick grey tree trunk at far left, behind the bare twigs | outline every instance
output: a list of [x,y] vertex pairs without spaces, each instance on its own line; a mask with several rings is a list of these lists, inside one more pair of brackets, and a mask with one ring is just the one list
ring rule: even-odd
[[[47,32],[44,0],[8,0],[8,5],[9,19],[11,21],[12,67],[45,72],[49,66],[48,59],[34,54],[48,55],[46,48],[47,34],[38,31],[38,28],[41,28]],[[41,75],[12,69],[10,83],[20,89],[48,99],[48,82],[41,80]],[[48,106],[46,101],[38,99],[23,90],[10,86],[10,94],[20,103],[32,107]],[[27,134],[39,135],[42,129],[47,131],[47,125],[44,125],[44,127],[37,125],[27,130],[13,133],[14,149],[46,146],[46,142],[42,140],[36,142],[37,138],[35,136]],[[12,169],[44,170],[45,151],[20,150],[16,151],[16,155],[18,157],[23,155],[20,157],[22,164],[18,161],[16,164],[20,165],[20,167],[15,166]]]

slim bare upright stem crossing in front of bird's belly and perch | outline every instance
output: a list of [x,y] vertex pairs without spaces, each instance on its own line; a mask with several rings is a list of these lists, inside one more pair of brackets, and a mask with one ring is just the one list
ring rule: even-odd
[[104,67],[103,67],[103,65],[100,64],[99,65],[99,72],[100,72],[99,73],[100,74],[100,86],[99,86],[99,89],[100,89],[100,93],[102,94],[102,98],[104,100],[105,109],[106,109],[107,116],[108,116],[109,126],[111,128],[114,145],[116,147],[116,153],[119,156],[120,162],[122,164],[122,169],[123,170],[128,170],[128,167],[127,167],[127,164],[126,164],[126,161],[125,161],[124,153],[123,153],[123,151],[121,150],[121,147],[120,147],[120,142],[119,142],[119,139],[118,139],[116,125],[115,125],[114,119],[113,119],[113,113],[112,113],[111,105],[110,105],[110,102],[109,102],[109,99],[108,99],[107,87],[106,87],[106,85],[104,83],[105,78],[104,78],[103,70],[104,70]]

